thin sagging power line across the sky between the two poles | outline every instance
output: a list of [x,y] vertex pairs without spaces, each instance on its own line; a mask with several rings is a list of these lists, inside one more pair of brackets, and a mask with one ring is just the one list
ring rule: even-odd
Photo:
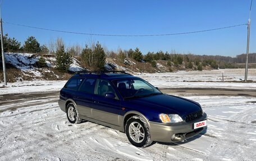
[[[4,22],[4,21],[3,21],[3,22]],[[46,29],[46,28],[43,28],[43,27],[34,27],[34,26],[28,26],[28,25],[13,24],[13,23],[11,23],[11,22],[4,22],[4,23],[5,23],[5,24],[10,24],[10,25],[22,26],[22,27],[29,27],[29,28],[33,28],[33,29],[39,29],[39,30],[55,31],[55,32],[60,32],[60,33],[79,34],[79,35],[93,35],[93,36],[120,36],[120,37],[143,37],[143,36],[184,35],[184,34],[203,33],[203,32],[207,32],[207,31],[222,30],[222,29],[228,29],[228,28],[231,28],[231,27],[237,27],[237,26],[248,25],[248,24],[240,24],[240,25],[226,26],[226,27],[220,27],[220,28],[215,28],[215,29],[200,30],[200,31],[191,31],[191,32],[184,32],[184,33],[171,33],[171,34],[116,35],[116,34],[90,34],[90,33],[79,33],[79,32],[73,32],[73,31],[63,31],[63,30],[55,30],[55,29]]]

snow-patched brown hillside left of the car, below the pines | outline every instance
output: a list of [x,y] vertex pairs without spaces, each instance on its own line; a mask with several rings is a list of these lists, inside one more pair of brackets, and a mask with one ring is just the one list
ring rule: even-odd
[[[63,73],[58,72],[55,67],[54,56],[43,56],[47,67],[40,68],[36,65],[40,56],[28,53],[6,53],[6,66],[8,82],[24,80],[63,80],[68,79]],[[73,63],[68,69],[71,72],[81,71],[80,62],[73,58]],[[2,71],[1,71],[2,72]],[[0,78],[0,81],[2,79]]]

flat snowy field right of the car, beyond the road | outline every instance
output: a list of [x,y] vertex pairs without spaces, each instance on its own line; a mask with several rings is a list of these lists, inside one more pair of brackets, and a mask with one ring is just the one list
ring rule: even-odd
[[[222,81],[222,71],[224,81]],[[241,82],[241,80],[244,80],[244,73],[244,69],[226,69],[172,73],[137,73],[136,76],[149,81],[158,88],[256,89],[256,69],[248,70],[248,80],[253,80],[254,82],[252,83]]]

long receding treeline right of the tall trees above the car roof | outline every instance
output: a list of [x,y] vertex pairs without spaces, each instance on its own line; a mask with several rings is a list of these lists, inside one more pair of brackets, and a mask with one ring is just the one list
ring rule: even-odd
[[[168,66],[181,66],[194,70],[202,69],[202,66],[210,66],[214,69],[218,68],[237,68],[235,63],[245,63],[246,54],[240,54],[235,58],[225,56],[207,56],[207,55],[194,55],[194,54],[179,54],[175,50],[171,50],[170,53],[163,52],[148,52],[142,54],[139,48],[135,50],[122,50],[118,49],[117,52],[107,52],[109,58],[116,58],[124,60],[125,58],[133,58],[140,62],[149,62],[152,67],[156,67],[156,61],[167,61]],[[249,63],[256,63],[256,53],[249,54]]]

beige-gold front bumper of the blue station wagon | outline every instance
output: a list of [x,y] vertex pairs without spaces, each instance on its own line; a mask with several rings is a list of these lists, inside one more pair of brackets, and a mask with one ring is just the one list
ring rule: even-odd
[[[198,135],[204,130],[205,127],[194,130],[194,123],[207,119],[207,114],[203,113],[203,116],[195,119],[192,122],[179,122],[179,123],[158,123],[149,122],[150,137],[153,141],[160,142],[177,142],[185,139],[189,139],[195,135]],[[175,135],[175,137],[172,137]]]

